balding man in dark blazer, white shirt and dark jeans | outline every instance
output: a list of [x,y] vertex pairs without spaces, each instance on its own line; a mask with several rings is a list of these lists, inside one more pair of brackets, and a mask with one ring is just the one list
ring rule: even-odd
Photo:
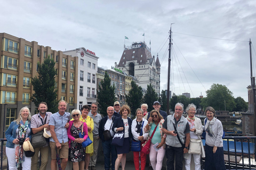
[[[107,109],[108,115],[103,117],[102,120],[100,121],[100,126],[99,126],[99,136],[102,141],[102,148],[103,148],[103,154],[104,154],[104,159],[105,159],[105,170],[110,169],[110,152],[111,152],[111,162],[112,162],[112,170],[115,170],[115,162],[117,158],[116,154],[116,147],[114,145],[111,145],[112,139],[114,137],[114,132],[111,130],[113,126],[113,122],[115,120],[114,116],[114,107],[109,106]],[[111,137],[110,139],[105,139],[103,132],[104,131],[109,131]]]

